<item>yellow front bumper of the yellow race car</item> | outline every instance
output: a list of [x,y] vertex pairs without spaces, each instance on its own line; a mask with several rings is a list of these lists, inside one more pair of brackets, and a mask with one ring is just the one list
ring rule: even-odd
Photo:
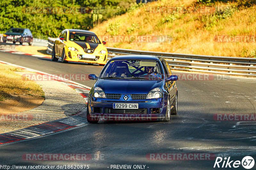
[[[79,56],[82,56],[83,54],[92,55],[92,56],[96,56],[96,58],[95,59],[93,59],[93,58],[81,58],[81,59],[79,59],[78,54],[79,54]],[[100,54],[100,53],[94,52],[94,53],[90,54],[90,53],[85,53],[84,51],[67,50],[66,56],[67,56],[66,57],[67,61],[106,64],[107,63],[107,58],[108,58],[108,53]]]

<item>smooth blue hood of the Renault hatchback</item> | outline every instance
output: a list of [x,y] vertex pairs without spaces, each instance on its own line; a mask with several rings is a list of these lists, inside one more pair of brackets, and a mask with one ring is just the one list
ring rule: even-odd
[[99,79],[96,86],[105,93],[114,94],[148,94],[160,86],[163,80],[125,80],[125,79]]

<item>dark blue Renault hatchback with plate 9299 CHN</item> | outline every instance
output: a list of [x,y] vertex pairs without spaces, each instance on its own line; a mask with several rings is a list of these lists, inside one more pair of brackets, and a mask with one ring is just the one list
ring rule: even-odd
[[178,109],[177,75],[162,57],[123,55],[113,57],[100,72],[89,93],[87,121],[169,121]]

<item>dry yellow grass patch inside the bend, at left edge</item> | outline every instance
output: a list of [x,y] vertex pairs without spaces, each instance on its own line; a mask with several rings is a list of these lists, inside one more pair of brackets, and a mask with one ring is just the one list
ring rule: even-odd
[[44,92],[38,84],[34,81],[24,81],[15,71],[22,70],[0,63],[0,101],[8,99],[10,95],[44,97]]

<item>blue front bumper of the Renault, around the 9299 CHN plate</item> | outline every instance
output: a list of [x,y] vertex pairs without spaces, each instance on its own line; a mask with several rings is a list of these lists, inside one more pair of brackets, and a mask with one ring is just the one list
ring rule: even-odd
[[[120,98],[121,100],[91,97],[91,100],[88,101],[88,106],[89,106],[89,114],[92,120],[102,118],[103,120],[109,120],[109,121],[111,120],[153,121],[153,120],[162,120],[165,117],[166,102],[164,102],[164,98],[124,101],[122,100],[123,96],[124,95],[121,96]],[[138,109],[113,109],[113,103],[127,103],[127,104],[138,103],[139,108]],[[144,111],[143,114],[138,113],[138,110],[142,110],[142,109],[146,109],[147,111]],[[152,114],[153,109],[158,109],[159,112],[157,114]],[[95,110],[97,111],[95,112]],[[124,110],[129,110],[129,111],[125,112]],[[134,110],[134,113],[133,113],[133,110]],[[112,113],[112,111],[114,111],[115,113]],[[118,113],[118,111],[121,111],[121,112],[123,111],[124,113]]]

